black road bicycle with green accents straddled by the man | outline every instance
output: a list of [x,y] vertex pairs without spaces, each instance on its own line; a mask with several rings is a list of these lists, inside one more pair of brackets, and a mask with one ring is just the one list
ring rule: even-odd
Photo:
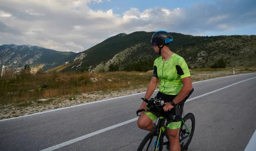
[[[192,89],[189,95],[191,95],[193,90],[194,89]],[[187,98],[189,98],[189,95],[183,100],[184,102]],[[161,98],[150,98],[146,103],[149,106],[149,110],[147,112],[153,112],[157,116],[157,119],[154,123],[154,129],[144,137],[137,151],[162,151],[163,145],[166,145],[166,149],[169,150],[169,138],[166,130],[166,126],[168,125],[168,123],[166,123],[166,118],[163,117],[163,115],[161,114],[161,111],[163,110],[163,100],[161,100]],[[151,110],[152,108],[154,108],[154,111]],[[176,109],[177,112],[179,112],[179,108]],[[144,110],[145,109],[137,110],[137,115],[139,114],[139,112],[142,112]],[[192,113],[188,113],[184,116],[183,112],[183,117],[181,121],[180,148],[181,151],[187,151],[195,130],[195,116]],[[166,137],[167,139],[166,142],[163,142],[164,137]]]

